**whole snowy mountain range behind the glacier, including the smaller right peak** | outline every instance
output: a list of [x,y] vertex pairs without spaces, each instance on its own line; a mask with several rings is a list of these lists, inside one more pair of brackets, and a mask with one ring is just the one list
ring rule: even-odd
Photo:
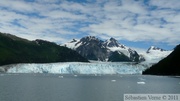
[[150,62],[157,63],[168,56],[172,51],[167,51],[159,47],[151,46],[147,51],[137,52],[129,48],[116,39],[110,38],[102,41],[94,36],[83,37],[82,39],[73,39],[63,44],[73,50],[76,50],[82,56],[89,60],[99,61],[128,61],[128,62]]

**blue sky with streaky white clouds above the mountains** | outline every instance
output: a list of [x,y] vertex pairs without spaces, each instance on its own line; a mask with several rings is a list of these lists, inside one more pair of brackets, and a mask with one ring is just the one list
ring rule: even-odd
[[111,37],[137,49],[180,44],[179,0],[0,0],[0,32],[62,44]]

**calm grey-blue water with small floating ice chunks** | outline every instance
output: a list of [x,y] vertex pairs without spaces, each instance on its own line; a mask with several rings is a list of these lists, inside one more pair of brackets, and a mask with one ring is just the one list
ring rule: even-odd
[[137,93],[180,94],[180,78],[0,74],[0,101],[123,101],[124,94]]

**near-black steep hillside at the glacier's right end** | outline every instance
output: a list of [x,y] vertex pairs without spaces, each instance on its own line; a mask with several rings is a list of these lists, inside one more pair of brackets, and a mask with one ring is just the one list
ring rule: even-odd
[[143,74],[180,75],[180,45],[176,46],[166,58],[145,70]]

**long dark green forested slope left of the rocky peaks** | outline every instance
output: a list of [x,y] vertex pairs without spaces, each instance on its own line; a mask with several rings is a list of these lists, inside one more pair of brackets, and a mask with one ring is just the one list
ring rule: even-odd
[[77,52],[55,43],[29,41],[11,34],[0,33],[0,65],[13,63],[87,62]]

